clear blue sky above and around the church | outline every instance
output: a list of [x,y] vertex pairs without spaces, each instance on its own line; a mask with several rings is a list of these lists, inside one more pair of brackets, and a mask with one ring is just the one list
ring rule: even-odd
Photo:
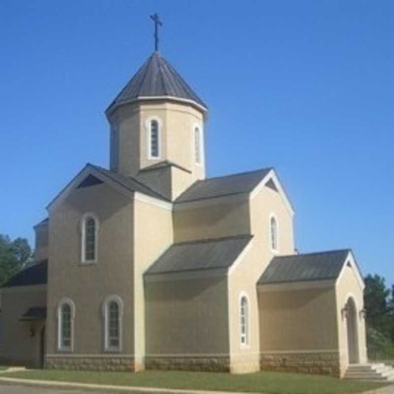
[[153,51],[209,106],[208,175],[275,166],[301,252],[352,247],[394,284],[393,1],[2,1],[0,233],[27,237]]

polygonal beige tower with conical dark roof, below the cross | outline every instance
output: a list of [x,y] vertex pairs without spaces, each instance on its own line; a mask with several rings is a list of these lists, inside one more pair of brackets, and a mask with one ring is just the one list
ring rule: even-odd
[[105,111],[110,169],[175,199],[205,178],[207,106],[155,51]]

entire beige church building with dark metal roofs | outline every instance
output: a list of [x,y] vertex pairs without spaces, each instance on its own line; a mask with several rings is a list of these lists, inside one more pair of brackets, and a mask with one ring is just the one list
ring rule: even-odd
[[105,114],[109,168],[49,202],[34,263],[1,289],[2,362],[337,377],[367,362],[354,254],[297,253],[274,168],[206,177],[208,108],[161,53]]

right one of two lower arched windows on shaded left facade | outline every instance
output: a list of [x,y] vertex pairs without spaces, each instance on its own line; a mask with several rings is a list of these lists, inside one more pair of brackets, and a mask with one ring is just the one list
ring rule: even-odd
[[104,318],[104,350],[119,352],[122,348],[123,301],[119,296],[108,296],[102,306]]

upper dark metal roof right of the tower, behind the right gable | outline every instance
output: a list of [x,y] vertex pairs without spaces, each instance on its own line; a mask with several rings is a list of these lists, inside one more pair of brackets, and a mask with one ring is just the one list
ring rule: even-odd
[[195,201],[251,192],[272,168],[243,172],[195,182],[175,202]]

